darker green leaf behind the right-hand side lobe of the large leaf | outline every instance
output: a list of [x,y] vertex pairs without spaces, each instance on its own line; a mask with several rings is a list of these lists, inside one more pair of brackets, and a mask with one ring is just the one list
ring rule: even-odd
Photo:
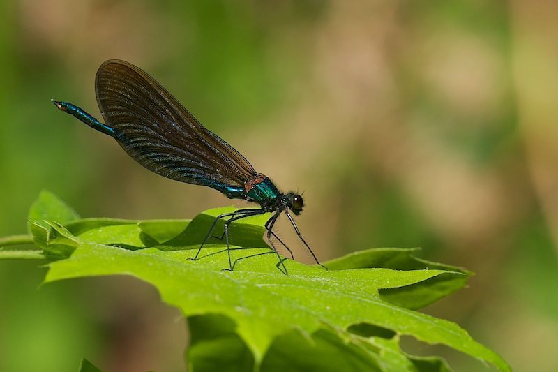
[[335,258],[324,262],[324,265],[330,269],[385,267],[394,270],[439,269],[451,271],[451,273],[441,274],[413,285],[379,291],[380,297],[385,301],[412,310],[428,306],[463,288],[467,284],[467,278],[472,275],[470,271],[460,267],[416,258],[414,253],[418,251],[420,251],[419,248],[373,248]]

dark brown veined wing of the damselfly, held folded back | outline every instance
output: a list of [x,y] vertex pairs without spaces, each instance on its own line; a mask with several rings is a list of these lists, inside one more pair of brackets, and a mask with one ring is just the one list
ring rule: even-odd
[[169,179],[243,186],[256,171],[227,142],[199,124],[151,76],[126,61],[105,61],[95,90],[105,124],[145,168]]

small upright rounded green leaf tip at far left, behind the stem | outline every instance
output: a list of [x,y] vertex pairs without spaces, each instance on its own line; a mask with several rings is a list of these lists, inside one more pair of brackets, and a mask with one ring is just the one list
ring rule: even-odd
[[37,200],[31,204],[27,218],[29,221],[38,221],[37,223],[42,225],[41,221],[45,220],[64,224],[80,216],[56,195],[49,191],[41,191]]

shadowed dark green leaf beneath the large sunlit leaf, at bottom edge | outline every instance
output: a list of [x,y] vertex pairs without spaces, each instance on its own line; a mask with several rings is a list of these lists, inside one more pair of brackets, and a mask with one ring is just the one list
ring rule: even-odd
[[[189,371],[250,371],[253,358],[234,322],[222,315],[188,319]],[[393,334],[392,336],[393,337]],[[398,348],[398,338],[361,338],[318,329],[310,336],[291,331],[278,336],[262,361],[260,372],[304,371],[451,371],[443,359],[409,357]]]

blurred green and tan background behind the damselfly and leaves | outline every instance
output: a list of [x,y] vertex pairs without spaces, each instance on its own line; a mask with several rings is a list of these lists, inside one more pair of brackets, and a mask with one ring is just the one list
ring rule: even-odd
[[[426,309],[516,371],[558,371],[558,3],[0,2],[0,234],[46,188],[82,216],[192,218],[231,204],[133,162],[98,116],[105,59],[147,70],[283,190],[322,260],[423,247],[469,288]],[[282,225],[282,235],[290,230]],[[184,371],[178,311],[131,278],[38,289],[0,262],[0,371]],[[458,371],[480,365],[441,350]]]

